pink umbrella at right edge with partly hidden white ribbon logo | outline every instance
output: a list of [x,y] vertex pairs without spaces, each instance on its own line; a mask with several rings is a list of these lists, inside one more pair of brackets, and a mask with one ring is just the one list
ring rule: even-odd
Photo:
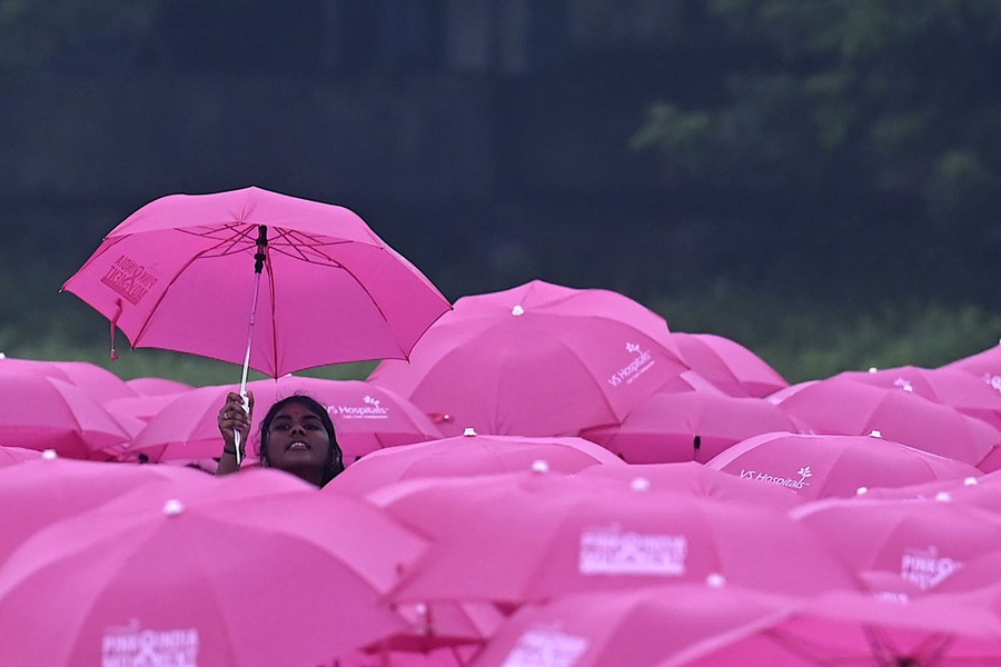
[[[905,587],[924,593],[951,588],[951,579],[963,570],[977,575],[968,586],[997,579],[1001,520],[975,507],[855,498],[819,500],[790,514],[858,574],[895,574]],[[886,586],[888,579],[880,583]]]

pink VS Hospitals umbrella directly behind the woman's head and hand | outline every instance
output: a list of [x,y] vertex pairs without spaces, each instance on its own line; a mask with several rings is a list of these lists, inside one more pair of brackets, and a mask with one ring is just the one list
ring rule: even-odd
[[[251,440],[275,401],[304,394],[327,407],[337,431],[345,464],[381,449],[440,438],[430,419],[392,390],[360,380],[328,380],[285,376],[247,384],[257,405],[250,427]],[[177,397],[153,416],[126,451],[135,458],[146,454],[151,460],[197,459],[219,456],[219,409],[235,385],[198,387]],[[248,448],[254,452],[255,447]]]

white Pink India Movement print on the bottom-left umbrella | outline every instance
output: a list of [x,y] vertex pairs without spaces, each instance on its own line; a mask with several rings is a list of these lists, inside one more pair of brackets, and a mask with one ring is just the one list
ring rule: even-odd
[[101,667],[198,667],[198,630],[142,629],[137,619],[129,625],[105,628]]

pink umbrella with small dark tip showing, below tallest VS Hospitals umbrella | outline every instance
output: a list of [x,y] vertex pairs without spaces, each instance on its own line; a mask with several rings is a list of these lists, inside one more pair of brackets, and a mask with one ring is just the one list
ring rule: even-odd
[[796,424],[760,398],[657,391],[622,424],[587,428],[581,436],[631,464],[705,462],[745,438],[780,430],[797,430]]

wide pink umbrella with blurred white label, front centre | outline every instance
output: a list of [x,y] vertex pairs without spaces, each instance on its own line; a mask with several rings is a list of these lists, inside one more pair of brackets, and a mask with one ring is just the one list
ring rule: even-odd
[[396,497],[393,487],[373,495],[434,540],[394,599],[516,607],[711,574],[803,595],[858,586],[815,535],[777,510],[527,475],[436,479]]

